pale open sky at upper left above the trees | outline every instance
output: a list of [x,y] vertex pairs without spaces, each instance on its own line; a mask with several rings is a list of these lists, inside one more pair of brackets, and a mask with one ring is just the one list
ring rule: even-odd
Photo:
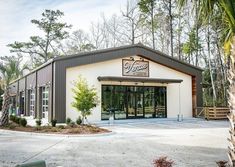
[[101,14],[111,17],[120,14],[127,0],[0,0],[0,56],[11,53],[6,47],[14,41],[26,42],[40,30],[32,19],[40,19],[45,9],[64,12],[63,22],[73,25],[71,31],[89,29]]

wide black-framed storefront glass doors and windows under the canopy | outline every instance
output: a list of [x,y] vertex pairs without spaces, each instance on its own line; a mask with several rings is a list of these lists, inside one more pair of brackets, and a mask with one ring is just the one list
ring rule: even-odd
[[166,87],[102,86],[101,119],[165,118]]

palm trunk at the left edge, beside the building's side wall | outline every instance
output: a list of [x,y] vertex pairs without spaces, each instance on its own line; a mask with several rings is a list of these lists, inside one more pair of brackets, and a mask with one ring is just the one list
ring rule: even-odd
[[5,90],[4,97],[3,97],[3,107],[2,107],[2,116],[0,119],[0,126],[6,126],[9,121],[9,104],[10,104],[10,96],[9,96],[9,90],[8,87]]

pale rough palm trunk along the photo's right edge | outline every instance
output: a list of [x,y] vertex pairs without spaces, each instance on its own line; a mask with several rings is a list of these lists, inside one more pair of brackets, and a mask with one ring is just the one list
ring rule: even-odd
[[231,129],[230,129],[230,139],[229,139],[229,159],[231,166],[235,166],[235,158],[234,158],[234,147],[235,147],[235,37],[233,38],[233,44],[232,44],[232,50],[231,50],[231,56],[230,56],[230,68],[229,68],[229,74],[228,74],[228,80],[229,80],[229,108],[230,108],[230,115],[229,120],[231,123]]

